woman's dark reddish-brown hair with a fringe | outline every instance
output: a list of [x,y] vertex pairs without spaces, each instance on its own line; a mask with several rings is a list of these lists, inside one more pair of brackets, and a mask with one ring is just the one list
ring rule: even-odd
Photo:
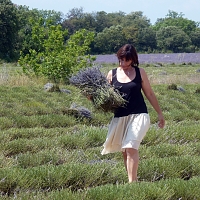
[[132,60],[133,63],[131,64],[132,67],[138,67],[138,54],[135,47],[131,44],[125,44],[122,46],[117,52],[117,58],[120,62],[120,59],[124,59],[126,61]]

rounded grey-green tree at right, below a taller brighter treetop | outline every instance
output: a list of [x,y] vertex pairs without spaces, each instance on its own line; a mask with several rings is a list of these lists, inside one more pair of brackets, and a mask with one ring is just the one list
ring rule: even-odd
[[156,32],[157,46],[165,51],[184,52],[191,45],[189,36],[176,26],[162,27]]

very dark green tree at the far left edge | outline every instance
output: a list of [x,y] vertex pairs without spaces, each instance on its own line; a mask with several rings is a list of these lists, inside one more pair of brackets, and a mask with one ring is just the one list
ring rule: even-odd
[[16,6],[10,0],[0,0],[0,58],[15,58],[18,30]]

